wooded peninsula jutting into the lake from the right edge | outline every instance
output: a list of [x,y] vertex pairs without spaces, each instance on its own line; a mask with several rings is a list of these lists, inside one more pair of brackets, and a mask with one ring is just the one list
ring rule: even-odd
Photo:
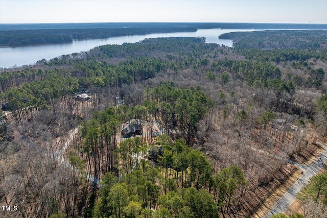
[[275,30],[233,32],[219,36],[233,40],[233,51],[249,60],[305,61],[327,60],[327,31]]

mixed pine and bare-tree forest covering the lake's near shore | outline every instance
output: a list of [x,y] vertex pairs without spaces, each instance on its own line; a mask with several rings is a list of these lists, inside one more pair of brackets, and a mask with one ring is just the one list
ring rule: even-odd
[[[222,37],[235,46],[146,39],[4,69],[0,199],[18,209],[0,214],[263,217],[325,149],[326,31]],[[273,217],[325,216],[321,167],[299,213]]]

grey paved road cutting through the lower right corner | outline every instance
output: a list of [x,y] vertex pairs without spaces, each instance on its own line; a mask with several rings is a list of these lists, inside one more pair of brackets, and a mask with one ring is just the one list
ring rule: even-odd
[[309,178],[315,176],[327,161],[327,144],[318,142],[325,150],[319,155],[319,157],[309,166],[301,167],[303,174],[297,181],[286,191],[284,196],[280,198],[276,204],[265,214],[265,218],[269,218],[276,213],[284,213],[289,206],[295,201],[297,192],[305,185],[308,184]]

